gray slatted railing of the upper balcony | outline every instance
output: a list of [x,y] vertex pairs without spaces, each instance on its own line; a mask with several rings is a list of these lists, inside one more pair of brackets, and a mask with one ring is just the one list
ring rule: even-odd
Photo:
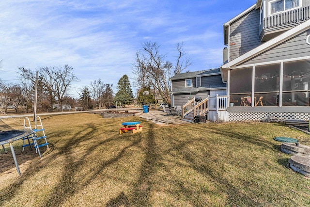
[[302,7],[277,15],[268,16],[263,20],[263,29],[284,26],[291,23],[302,22],[310,19],[310,6]]

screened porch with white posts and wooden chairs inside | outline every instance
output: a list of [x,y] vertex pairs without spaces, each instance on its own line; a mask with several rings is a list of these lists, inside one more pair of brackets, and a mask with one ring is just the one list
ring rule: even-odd
[[236,67],[229,74],[230,106],[310,106],[310,59]]

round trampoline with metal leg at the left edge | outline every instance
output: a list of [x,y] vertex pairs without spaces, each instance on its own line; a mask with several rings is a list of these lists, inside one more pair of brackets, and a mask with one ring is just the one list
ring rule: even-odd
[[2,145],[4,151],[4,144],[10,144],[11,152],[13,155],[13,159],[15,162],[15,166],[17,169],[18,175],[20,175],[17,159],[14,152],[13,142],[28,137],[33,134],[32,130],[8,130],[8,131],[0,131],[0,145]]

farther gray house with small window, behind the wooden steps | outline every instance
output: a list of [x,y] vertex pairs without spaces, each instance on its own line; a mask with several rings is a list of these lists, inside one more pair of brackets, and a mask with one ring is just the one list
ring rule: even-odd
[[219,68],[178,73],[171,77],[171,81],[171,106],[182,106],[195,96],[205,99],[227,95]]

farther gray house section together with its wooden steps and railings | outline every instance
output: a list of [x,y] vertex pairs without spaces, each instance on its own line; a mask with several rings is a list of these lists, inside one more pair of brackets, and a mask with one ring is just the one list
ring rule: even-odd
[[[182,116],[186,121],[193,121],[195,117],[205,113],[209,113],[208,120],[217,120],[214,118],[218,117],[215,99],[225,96],[225,103],[227,100],[226,83],[222,81],[219,68],[179,73],[171,78],[171,82],[171,106],[181,107]],[[210,100],[212,104],[209,103]],[[210,107],[211,105],[213,107]],[[222,107],[224,105],[221,104]],[[212,115],[210,110],[214,110]]]

